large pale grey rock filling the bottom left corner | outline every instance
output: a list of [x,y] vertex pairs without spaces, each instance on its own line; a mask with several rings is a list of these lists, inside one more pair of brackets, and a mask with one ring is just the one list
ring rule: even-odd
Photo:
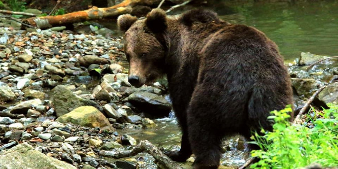
[[35,150],[27,143],[19,144],[8,151],[0,152],[0,166],[2,168],[76,169],[71,164]]

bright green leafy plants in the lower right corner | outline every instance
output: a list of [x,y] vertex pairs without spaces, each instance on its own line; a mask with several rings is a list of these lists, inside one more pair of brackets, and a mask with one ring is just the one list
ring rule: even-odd
[[263,136],[255,133],[252,137],[252,143],[261,150],[251,152],[260,159],[251,168],[300,168],[314,162],[325,167],[338,166],[338,105],[330,107],[307,115],[305,124],[312,123],[312,128],[291,125],[290,107],[273,111],[269,117],[276,122],[273,132]]

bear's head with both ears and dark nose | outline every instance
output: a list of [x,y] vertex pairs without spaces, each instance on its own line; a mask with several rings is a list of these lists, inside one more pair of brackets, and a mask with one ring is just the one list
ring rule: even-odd
[[165,12],[154,9],[142,20],[125,14],[118,17],[117,23],[125,32],[124,53],[129,62],[129,83],[135,87],[151,84],[164,74],[167,49],[164,40],[167,28]]

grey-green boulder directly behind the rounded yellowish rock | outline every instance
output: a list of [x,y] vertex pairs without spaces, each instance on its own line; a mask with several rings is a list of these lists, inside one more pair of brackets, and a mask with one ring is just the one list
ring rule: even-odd
[[58,85],[51,91],[56,117],[60,117],[81,106],[94,106],[99,108],[96,102],[74,94],[64,85]]

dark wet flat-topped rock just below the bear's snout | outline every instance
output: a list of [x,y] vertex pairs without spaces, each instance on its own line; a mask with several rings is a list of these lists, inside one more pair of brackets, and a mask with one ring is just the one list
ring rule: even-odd
[[168,115],[171,111],[171,104],[162,96],[145,91],[137,91],[128,96],[131,104],[147,113],[157,115]]

